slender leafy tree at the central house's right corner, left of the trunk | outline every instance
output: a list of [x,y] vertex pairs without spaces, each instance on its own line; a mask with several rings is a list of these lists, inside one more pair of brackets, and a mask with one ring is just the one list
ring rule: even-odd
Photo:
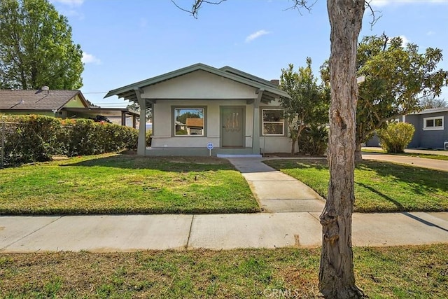
[[317,84],[317,78],[311,70],[311,58],[307,57],[307,67],[294,71],[294,65],[281,69],[280,88],[290,95],[282,97],[281,106],[285,109],[290,132],[291,155],[295,153],[295,144],[305,127],[328,123],[329,93],[324,85]]

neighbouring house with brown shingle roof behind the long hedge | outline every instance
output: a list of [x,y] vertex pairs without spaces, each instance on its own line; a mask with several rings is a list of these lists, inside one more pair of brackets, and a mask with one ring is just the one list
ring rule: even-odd
[[58,118],[94,118],[101,115],[121,125],[126,125],[127,118],[132,118],[134,127],[139,116],[139,113],[127,108],[91,107],[80,90],[50,90],[46,86],[40,90],[0,90],[0,113]]

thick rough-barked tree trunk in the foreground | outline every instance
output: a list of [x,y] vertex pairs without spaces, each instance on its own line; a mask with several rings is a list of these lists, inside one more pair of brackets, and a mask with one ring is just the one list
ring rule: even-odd
[[331,25],[328,199],[321,214],[319,289],[325,298],[363,298],[355,284],[351,249],[356,130],[356,47],[364,0],[328,0]]

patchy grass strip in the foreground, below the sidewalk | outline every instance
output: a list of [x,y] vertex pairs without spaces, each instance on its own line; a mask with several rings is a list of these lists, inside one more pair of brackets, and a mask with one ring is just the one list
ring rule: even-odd
[[[2,253],[1,298],[314,298],[319,249]],[[370,298],[446,298],[448,246],[355,248]],[[283,292],[283,296],[279,294]]]

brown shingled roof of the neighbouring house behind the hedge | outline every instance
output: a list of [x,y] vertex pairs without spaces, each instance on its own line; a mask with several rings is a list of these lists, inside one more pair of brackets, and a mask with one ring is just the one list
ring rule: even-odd
[[76,95],[87,107],[87,102],[79,90],[0,90],[0,111],[58,111]]

